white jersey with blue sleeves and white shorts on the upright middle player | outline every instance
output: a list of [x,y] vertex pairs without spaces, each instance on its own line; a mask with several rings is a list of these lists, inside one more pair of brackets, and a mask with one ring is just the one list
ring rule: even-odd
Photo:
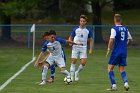
[[73,41],[77,44],[83,44],[81,45],[73,45],[72,47],[72,58],[78,58],[80,56],[81,58],[87,58],[87,41],[88,38],[92,38],[92,32],[88,30],[87,28],[74,28],[71,35],[73,38]]

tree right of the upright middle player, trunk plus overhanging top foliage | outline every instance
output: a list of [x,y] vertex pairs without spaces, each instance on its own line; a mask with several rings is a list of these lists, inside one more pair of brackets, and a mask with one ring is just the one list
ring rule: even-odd
[[102,43],[103,36],[102,36],[102,8],[107,4],[110,4],[112,0],[91,0],[92,10],[93,10],[93,24],[95,26],[95,43]]

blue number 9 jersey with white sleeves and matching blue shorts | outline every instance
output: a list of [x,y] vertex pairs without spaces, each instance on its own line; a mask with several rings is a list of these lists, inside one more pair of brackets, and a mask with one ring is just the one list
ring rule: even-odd
[[117,25],[111,29],[110,38],[115,39],[115,43],[108,64],[126,66],[127,41],[132,39],[128,29]]

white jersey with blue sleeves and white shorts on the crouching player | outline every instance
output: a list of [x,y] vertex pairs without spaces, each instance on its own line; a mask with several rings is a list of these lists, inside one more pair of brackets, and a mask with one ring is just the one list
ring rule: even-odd
[[53,43],[46,41],[42,46],[43,52],[45,52],[46,50],[50,52],[50,55],[46,60],[46,62],[48,62],[50,66],[56,63],[58,67],[65,67],[64,52],[62,51],[61,47],[61,44],[65,43],[65,39],[56,38],[56,40]]

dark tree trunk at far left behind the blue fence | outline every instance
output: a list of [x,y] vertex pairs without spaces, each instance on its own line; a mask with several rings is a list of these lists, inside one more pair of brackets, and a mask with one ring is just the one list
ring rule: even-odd
[[10,41],[11,38],[11,17],[6,15],[1,15],[1,22],[4,26],[2,26],[2,36],[1,40],[3,41]]

